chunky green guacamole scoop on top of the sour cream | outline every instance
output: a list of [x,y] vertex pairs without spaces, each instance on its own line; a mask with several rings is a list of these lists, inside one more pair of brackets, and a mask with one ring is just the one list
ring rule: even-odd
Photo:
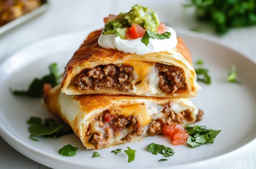
[[159,18],[154,11],[139,4],[134,5],[131,11],[119,15],[120,18],[109,20],[105,24],[104,35],[115,34],[117,28],[131,27],[133,23],[154,33],[160,24]]

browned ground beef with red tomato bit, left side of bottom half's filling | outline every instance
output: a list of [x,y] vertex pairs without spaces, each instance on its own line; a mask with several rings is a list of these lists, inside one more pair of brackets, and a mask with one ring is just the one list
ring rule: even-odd
[[[100,130],[95,133],[90,133],[90,128],[96,121],[99,123]],[[111,112],[107,110],[92,120],[87,130],[86,137],[89,141],[94,143],[95,149],[97,150],[106,146],[114,136],[121,136],[124,129],[128,129],[128,134],[124,136],[122,140],[128,142],[132,140],[133,136],[138,136],[143,133],[143,126],[138,124],[135,116],[111,114]]]

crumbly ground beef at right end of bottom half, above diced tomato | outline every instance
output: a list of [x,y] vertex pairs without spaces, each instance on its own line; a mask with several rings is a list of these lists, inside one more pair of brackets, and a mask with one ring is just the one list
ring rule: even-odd
[[[171,110],[171,103],[168,103],[167,105],[164,106],[164,109],[162,111],[163,116],[161,119],[157,120],[151,120],[148,126],[147,133],[151,136],[154,136],[155,134],[163,134],[162,131],[162,126],[164,124],[166,125],[171,125],[172,122],[176,122],[178,124],[182,124],[184,121],[183,119],[187,119],[188,121],[191,121],[190,117],[190,111],[189,110],[184,110],[180,112],[180,114],[175,114]],[[199,109],[198,114],[196,115],[196,121],[202,120],[204,112]]]

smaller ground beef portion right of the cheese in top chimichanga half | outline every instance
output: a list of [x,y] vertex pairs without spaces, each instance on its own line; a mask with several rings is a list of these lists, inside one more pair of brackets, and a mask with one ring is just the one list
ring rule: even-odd
[[185,74],[183,69],[163,63],[156,63],[156,69],[159,71],[158,87],[162,92],[171,95],[186,90]]

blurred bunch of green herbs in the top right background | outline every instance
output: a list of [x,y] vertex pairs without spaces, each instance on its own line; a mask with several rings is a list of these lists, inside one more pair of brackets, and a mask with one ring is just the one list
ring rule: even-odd
[[256,25],[256,0],[189,0],[199,21],[209,23],[216,33],[232,27]]

